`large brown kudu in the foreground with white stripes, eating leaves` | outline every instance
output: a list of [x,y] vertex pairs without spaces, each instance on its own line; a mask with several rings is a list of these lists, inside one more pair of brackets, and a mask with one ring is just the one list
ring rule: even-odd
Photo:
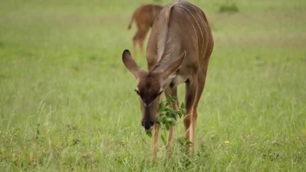
[[[159,104],[164,92],[166,98],[177,97],[177,85],[185,82],[185,137],[194,144],[197,107],[202,95],[213,37],[205,14],[196,6],[179,1],[166,6],[152,26],[147,44],[148,71],[140,69],[128,50],[122,60],[137,79],[142,119],[146,131],[154,128],[153,154],[156,156],[160,126],[156,124]],[[172,105],[178,109],[178,99]],[[175,127],[171,127],[167,148],[173,145]],[[193,146],[186,149],[193,153]],[[169,151],[168,151],[169,152]]]

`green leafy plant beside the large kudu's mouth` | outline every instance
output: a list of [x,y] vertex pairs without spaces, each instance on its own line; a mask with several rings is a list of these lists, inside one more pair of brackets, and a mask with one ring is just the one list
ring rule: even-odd
[[[160,103],[160,116],[157,119],[157,124],[160,125],[162,129],[164,129],[164,133],[161,134],[161,138],[165,145],[167,144],[166,131],[169,131],[172,126],[175,126],[177,124],[177,119],[181,118],[185,114],[184,103],[181,104],[179,109],[173,109],[171,107],[171,105],[174,104],[176,100],[176,97],[170,97],[169,100]],[[149,137],[152,137],[151,132],[146,132],[146,134]]]

